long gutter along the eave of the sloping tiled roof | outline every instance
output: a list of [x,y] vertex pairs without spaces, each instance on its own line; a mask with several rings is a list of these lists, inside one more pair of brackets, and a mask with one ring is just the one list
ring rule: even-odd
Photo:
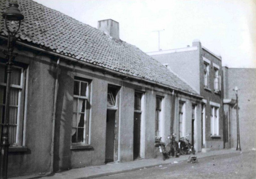
[[[6,37],[4,37],[2,35],[0,35],[0,36],[2,38],[4,38],[5,40],[7,40]],[[196,98],[200,98],[200,99],[204,98],[203,96],[201,96],[199,94],[189,93],[189,92],[180,90],[178,88],[174,88],[174,87],[170,87],[170,86],[167,86],[167,85],[163,85],[161,83],[153,82],[153,81],[150,81],[150,80],[147,80],[147,79],[144,79],[144,78],[134,77],[132,75],[125,75],[125,74],[123,74],[121,72],[118,72],[118,71],[110,70],[108,68],[101,67],[101,66],[98,66],[98,65],[94,65],[94,64],[91,64],[91,63],[88,63],[88,62],[85,62],[85,61],[82,61],[82,60],[79,60],[79,59],[76,59],[76,58],[73,58],[73,57],[65,56],[65,55],[62,55],[62,54],[59,54],[59,53],[56,53],[56,52],[52,52],[52,51],[49,51],[49,50],[38,48],[38,47],[26,44],[26,43],[21,42],[21,41],[16,41],[16,43],[20,44],[22,46],[25,46],[25,47],[37,50],[37,51],[41,51],[41,52],[53,55],[53,56],[58,56],[59,58],[70,60],[70,61],[72,61],[74,63],[80,63],[81,65],[85,65],[85,66],[88,66],[88,67],[91,67],[91,68],[94,68],[94,69],[96,68],[96,69],[100,69],[100,70],[103,70],[103,71],[107,71],[109,73],[114,73],[114,74],[120,75],[120,76],[122,76],[124,78],[133,78],[133,79],[136,79],[138,81],[143,81],[143,82],[150,83],[150,84],[153,84],[153,85],[157,85],[157,86],[161,86],[161,87],[168,88],[168,89],[171,89],[171,90],[179,91],[180,93],[184,93],[184,94],[188,94],[188,95],[191,95],[191,96],[195,96]]]

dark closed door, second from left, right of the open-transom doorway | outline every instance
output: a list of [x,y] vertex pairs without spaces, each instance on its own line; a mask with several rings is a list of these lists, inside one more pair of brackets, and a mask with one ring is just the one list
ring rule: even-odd
[[133,159],[140,158],[140,118],[141,113],[134,113],[133,122]]

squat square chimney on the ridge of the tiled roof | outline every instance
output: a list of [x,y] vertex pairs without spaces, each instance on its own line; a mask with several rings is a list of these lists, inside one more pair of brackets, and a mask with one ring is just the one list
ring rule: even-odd
[[98,29],[107,33],[109,36],[113,37],[116,40],[119,39],[119,23],[112,20],[99,20],[98,21]]

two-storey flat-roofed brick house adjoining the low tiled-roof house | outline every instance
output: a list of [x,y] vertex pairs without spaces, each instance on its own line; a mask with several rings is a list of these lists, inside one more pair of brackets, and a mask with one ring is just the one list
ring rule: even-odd
[[[192,47],[149,52],[170,71],[184,79],[204,97],[201,102],[202,127],[200,145],[203,150],[222,149],[223,89],[221,57],[193,41]],[[185,131],[182,135],[189,133]]]

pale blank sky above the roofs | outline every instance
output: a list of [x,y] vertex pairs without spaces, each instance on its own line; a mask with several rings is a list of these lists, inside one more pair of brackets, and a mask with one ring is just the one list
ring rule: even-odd
[[256,0],[34,0],[97,28],[119,22],[120,39],[144,52],[202,45],[222,66],[256,68]]

